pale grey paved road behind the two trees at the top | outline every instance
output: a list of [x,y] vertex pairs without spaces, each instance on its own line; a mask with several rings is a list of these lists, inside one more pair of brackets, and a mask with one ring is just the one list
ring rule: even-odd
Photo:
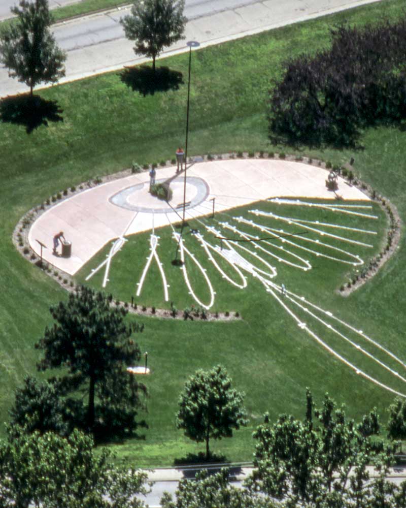
[[[380,0],[187,0],[186,39],[167,48],[162,56],[187,51],[188,40],[209,46],[377,1]],[[58,43],[68,55],[66,78],[61,82],[146,61],[134,55],[132,43],[124,38],[119,19],[126,12],[113,10],[53,27]],[[0,69],[0,97],[26,90],[24,84],[8,77],[6,69]]]

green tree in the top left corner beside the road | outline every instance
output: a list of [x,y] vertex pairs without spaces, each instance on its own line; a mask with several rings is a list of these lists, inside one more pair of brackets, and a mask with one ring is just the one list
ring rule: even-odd
[[32,89],[39,83],[56,83],[65,75],[66,54],[51,34],[48,0],[30,3],[20,0],[20,8],[12,7],[17,22],[0,31],[0,62]]

